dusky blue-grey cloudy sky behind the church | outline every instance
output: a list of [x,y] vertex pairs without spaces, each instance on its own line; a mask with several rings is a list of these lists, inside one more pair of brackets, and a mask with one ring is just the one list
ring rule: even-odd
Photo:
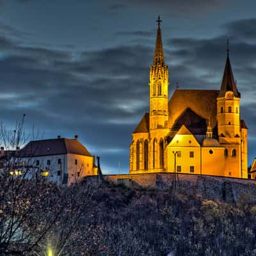
[[81,141],[103,173],[129,172],[132,131],[148,111],[160,15],[169,97],[220,88],[227,38],[248,164],[256,157],[256,1],[0,0],[0,122]]

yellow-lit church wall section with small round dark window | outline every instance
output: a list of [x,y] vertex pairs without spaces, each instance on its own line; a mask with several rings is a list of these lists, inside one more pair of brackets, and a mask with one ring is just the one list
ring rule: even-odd
[[225,157],[223,147],[202,147],[202,174],[224,176]]

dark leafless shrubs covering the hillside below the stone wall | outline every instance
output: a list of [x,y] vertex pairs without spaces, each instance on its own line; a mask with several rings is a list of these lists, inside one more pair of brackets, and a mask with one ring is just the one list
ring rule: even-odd
[[[173,195],[172,191],[113,184],[98,188],[77,184],[65,191],[52,186],[51,193],[58,195],[55,204],[41,198],[45,210],[36,208],[35,218],[33,214],[24,216],[30,221],[24,222],[31,230],[31,241],[33,232],[38,237],[40,229],[44,230],[45,216],[58,212],[57,221],[47,227],[33,250],[23,255],[47,255],[50,247],[54,256],[256,255],[256,205],[250,204],[249,195],[228,204],[179,191]],[[12,244],[15,246],[18,244]]]

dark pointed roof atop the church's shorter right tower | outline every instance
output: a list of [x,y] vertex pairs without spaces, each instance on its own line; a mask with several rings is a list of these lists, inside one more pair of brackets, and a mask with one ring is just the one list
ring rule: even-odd
[[228,47],[228,41],[227,41],[227,60],[226,60],[225,70],[222,78],[220,94],[218,97],[225,97],[225,93],[228,91],[234,92],[234,96],[237,98],[240,98],[241,96],[237,90],[236,81],[233,76],[231,63],[229,60],[229,47]]

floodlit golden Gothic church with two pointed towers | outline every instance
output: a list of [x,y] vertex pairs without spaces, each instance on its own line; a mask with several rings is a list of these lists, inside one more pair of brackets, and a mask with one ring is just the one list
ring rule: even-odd
[[[220,90],[180,90],[168,100],[158,19],[154,63],[149,74],[149,113],[132,133],[129,173],[194,173],[248,178],[247,127],[240,116],[227,49]],[[217,88],[216,88],[217,89]]]

